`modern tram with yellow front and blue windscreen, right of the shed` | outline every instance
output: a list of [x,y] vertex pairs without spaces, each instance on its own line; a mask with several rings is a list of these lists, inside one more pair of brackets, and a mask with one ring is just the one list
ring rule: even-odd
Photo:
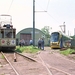
[[52,32],[50,37],[50,47],[51,48],[64,48],[71,46],[72,38],[66,36],[62,32]]

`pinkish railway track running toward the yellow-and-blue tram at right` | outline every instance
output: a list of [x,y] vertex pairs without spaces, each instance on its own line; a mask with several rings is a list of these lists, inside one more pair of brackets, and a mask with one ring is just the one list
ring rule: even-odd
[[48,75],[75,75],[75,62],[61,56],[57,51],[42,51],[38,58],[39,63],[46,67]]

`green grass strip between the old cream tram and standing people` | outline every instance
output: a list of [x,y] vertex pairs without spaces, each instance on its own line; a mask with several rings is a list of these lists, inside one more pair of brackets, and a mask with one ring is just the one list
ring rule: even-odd
[[37,53],[39,51],[39,49],[37,47],[34,47],[34,46],[23,46],[23,47],[17,46],[16,51],[18,51],[20,53],[22,53],[22,52]]

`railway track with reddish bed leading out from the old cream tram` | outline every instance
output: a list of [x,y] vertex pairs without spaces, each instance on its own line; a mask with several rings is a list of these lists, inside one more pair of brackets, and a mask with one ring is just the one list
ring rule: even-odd
[[15,72],[13,75],[48,75],[45,67],[31,57],[20,53],[1,53]]

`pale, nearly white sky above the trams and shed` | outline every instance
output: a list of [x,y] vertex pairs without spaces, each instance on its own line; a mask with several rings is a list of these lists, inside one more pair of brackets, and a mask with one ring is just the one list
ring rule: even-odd
[[[33,27],[33,0],[0,0],[1,14],[12,16],[16,33]],[[60,31],[64,22],[66,34],[74,35],[75,0],[35,0],[35,28],[49,26],[50,32]]]

